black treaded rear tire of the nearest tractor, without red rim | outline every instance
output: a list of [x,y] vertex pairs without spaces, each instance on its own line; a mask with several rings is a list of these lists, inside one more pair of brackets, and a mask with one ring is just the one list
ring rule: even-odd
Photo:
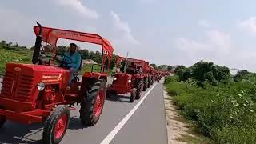
[[[86,89],[83,93],[83,98],[81,102],[80,120],[84,126],[94,126],[102,114],[102,109],[104,106],[106,98],[106,81],[104,79],[96,80],[87,84]],[[102,91],[103,90],[103,91]],[[96,105],[96,99],[98,94],[102,95],[102,107],[98,115],[94,114],[94,108]]]

